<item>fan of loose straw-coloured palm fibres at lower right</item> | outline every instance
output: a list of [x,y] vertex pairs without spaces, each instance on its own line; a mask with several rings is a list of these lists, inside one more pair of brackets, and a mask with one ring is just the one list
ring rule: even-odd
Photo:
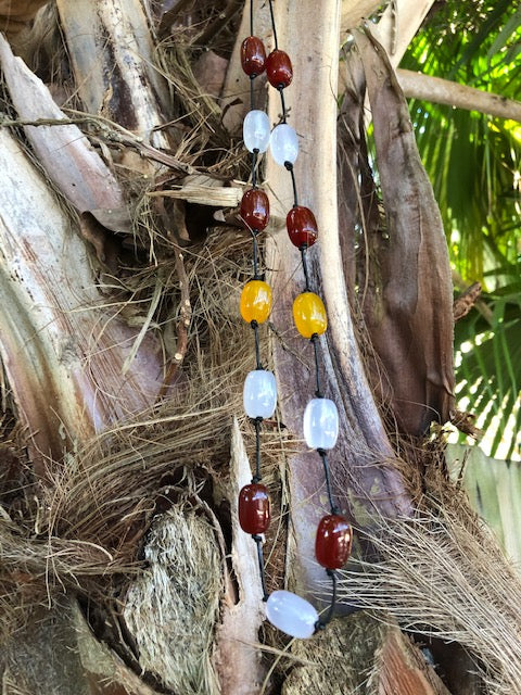
[[380,561],[342,572],[340,599],[406,630],[457,642],[494,695],[521,692],[521,582],[462,490],[440,468],[411,519],[371,534]]

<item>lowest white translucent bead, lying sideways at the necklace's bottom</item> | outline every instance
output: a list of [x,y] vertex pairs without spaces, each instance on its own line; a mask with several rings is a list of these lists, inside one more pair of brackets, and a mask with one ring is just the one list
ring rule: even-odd
[[291,591],[274,591],[266,602],[266,616],[275,628],[301,640],[313,635],[318,620],[312,604]]

